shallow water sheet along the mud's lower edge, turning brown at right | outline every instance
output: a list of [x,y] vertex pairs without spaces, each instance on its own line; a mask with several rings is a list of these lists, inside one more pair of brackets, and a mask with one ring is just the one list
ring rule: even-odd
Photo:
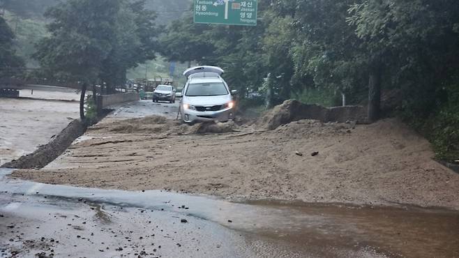
[[[174,232],[183,230],[183,225],[206,228],[199,230],[203,234],[200,243],[193,242],[193,237],[182,238],[183,243],[206,250],[206,255],[192,252],[191,257],[459,256],[458,211],[412,206],[235,203],[159,190],[127,192],[46,185],[8,179],[8,173],[0,169],[0,189],[7,192],[0,195],[0,213],[23,214],[28,209],[31,213],[40,209],[49,213],[50,207],[59,212],[79,207],[80,213],[89,211],[98,227],[138,228],[149,225],[146,220],[156,220],[156,225],[173,226]],[[187,223],[181,223],[182,218]],[[212,239],[204,237],[206,234],[212,234]],[[212,251],[216,245],[219,255]],[[172,250],[165,254],[179,254],[176,246]]]

